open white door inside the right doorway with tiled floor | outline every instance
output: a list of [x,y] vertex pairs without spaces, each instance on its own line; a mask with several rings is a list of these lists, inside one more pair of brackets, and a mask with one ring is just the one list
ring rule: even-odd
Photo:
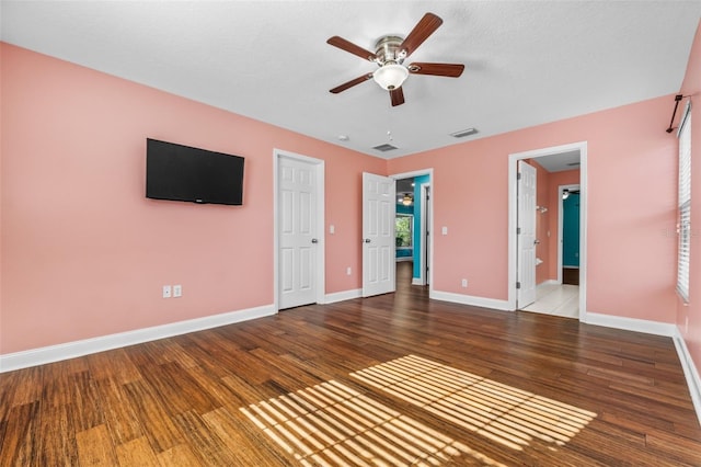
[[518,161],[517,306],[536,301],[536,168]]

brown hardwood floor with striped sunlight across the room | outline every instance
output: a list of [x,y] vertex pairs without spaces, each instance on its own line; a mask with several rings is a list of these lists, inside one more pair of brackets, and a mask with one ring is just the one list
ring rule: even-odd
[[670,339],[434,301],[409,274],[4,373],[0,465],[701,465]]

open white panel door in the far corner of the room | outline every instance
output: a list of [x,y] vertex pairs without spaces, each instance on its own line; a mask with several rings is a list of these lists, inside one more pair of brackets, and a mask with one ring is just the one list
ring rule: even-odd
[[394,292],[394,179],[363,173],[363,296]]

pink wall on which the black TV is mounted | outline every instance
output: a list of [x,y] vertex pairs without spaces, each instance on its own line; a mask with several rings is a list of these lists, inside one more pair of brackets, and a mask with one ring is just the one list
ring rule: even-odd
[[[326,160],[326,292],[360,287],[347,200],[384,160],[1,47],[0,353],[271,305],[274,148]],[[147,137],[244,156],[244,206],[147,200]]]

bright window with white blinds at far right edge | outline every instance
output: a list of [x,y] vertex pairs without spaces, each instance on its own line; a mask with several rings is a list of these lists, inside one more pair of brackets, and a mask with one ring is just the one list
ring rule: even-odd
[[689,301],[689,247],[691,243],[691,102],[679,124],[679,247],[677,257],[677,293]]

